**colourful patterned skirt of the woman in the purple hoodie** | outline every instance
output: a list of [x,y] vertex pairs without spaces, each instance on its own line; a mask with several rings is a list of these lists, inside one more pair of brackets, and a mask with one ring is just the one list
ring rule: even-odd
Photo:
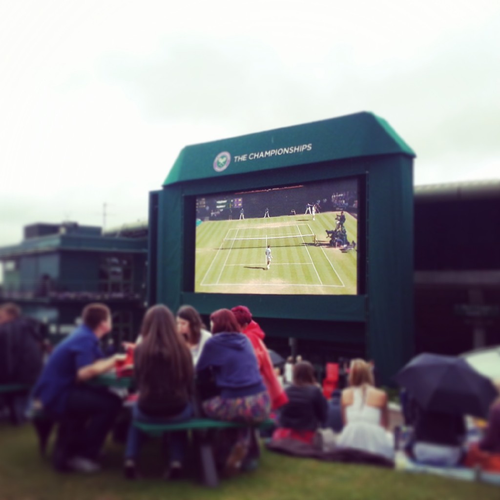
[[206,416],[229,422],[248,424],[264,421],[271,410],[271,399],[266,390],[244,397],[215,396],[202,403]]

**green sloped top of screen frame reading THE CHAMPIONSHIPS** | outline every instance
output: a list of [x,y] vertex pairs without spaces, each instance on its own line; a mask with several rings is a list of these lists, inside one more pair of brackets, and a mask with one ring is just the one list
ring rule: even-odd
[[[228,152],[230,159],[216,171],[214,162],[222,152]],[[384,119],[363,111],[185,146],[163,185],[384,154],[415,156]]]

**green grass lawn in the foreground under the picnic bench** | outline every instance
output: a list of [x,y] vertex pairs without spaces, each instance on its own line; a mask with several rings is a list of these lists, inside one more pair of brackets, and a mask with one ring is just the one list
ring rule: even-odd
[[265,451],[257,471],[208,489],[193,481],[168,483],[159,479],[162,460],[158,448],[159,443],[154,441],[143,449],[141,469],[145,477],[137,481],[122,478],[123,448],[114,443],[106,446],[104,471],[92,476],[57,474],[38,455],[34,431],[29,425],[11,427],[0,423],[0,500],[500,498],[500,488],[491,485],[291,458]]

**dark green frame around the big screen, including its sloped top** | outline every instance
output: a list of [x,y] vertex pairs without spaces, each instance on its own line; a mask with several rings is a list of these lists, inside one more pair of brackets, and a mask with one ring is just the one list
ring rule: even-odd
[[[149,296],[172,310],[189,303],[202,314],[247,305],[269,338],[360,353],[373,358],[381,381],[390,383],[413,349],[413,157],[390,125],[364,112],[185,147],[155,196],[149,251],[156,281]],[[356,295],[194,291],[196,197],[280,186],[284,177],[300,183],[352,176],[365,189]]]

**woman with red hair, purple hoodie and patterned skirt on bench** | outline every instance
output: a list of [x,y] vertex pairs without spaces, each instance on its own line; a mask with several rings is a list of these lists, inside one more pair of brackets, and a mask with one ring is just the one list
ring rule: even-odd
[[[269,415],[271,403],[250,341],[240,333],[239,323],[229,309],[212,312],[210,325],[212,337],[204,345],[196,373],[203,378],[211,369],[220,393],[203,401],[203,411],[217,420],[249,425],[262,422]],[[249,434],[244,429],[225,461],[226,474],[239,470],[248,444]]]

